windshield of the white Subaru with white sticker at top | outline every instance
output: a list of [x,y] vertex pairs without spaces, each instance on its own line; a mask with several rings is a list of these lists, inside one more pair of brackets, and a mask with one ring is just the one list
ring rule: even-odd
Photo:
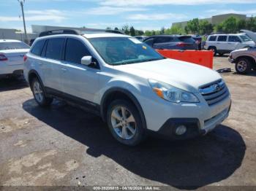
[[135,38],[104,37],[89,39],[103,60],[110,65],[122,65],[164,59],[147,44]]

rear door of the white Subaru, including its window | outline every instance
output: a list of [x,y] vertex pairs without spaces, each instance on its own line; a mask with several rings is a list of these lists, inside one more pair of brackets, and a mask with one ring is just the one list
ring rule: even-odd
[[62,90],[60,74],[64,42],[65,39],[61,37],[48,39],[42,50],[42,59],[38,63],[44,86],[59,91]]

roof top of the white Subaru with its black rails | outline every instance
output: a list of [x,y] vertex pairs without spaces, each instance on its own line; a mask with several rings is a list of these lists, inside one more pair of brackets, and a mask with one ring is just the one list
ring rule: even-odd
[[114,34],[123,34],[121,31],[111,30],[111,29],[94,29],[94,28],[81,28],[81,30],[75,29],[58,29],[52,31],[43,31],[39,34],[41,36],[49,36],[55,34],[86,34],[86,33],[114,33]]

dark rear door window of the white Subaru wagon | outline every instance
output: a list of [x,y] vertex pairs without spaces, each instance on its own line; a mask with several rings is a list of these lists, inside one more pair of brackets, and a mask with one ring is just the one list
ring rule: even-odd
[[55,60],[61,60],[61,53],[64,46],[64,42],[64,38],[48,39],[45,57]]

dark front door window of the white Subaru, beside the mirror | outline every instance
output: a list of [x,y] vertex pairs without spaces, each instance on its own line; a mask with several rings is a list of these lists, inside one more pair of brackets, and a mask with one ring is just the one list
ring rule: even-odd
[[65,61],[81,63],[83,56],[91,55],[86,46],[78,39],[67,39]]

